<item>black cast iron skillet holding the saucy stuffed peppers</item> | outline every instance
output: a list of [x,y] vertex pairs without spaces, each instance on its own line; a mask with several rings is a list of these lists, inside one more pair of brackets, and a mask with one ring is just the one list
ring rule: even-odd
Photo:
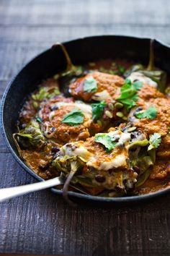
[[[129,59],[147,64],[149,56],[149,38],[133,38],[127,36],[101,35],[89,38],[80,38],[63,43],[73,64],[86,64],[89,61],[98,59]],[[156,66],[170,73],[170,48],[164,43],[155,40],[154,43]],[[42,54],[32,59],[26,64],[16,77],[9,82],[1,103],[1,129],[6,140],[6,144],[12,155],[25,171],[42,181],[29,167],[25,165],[14,145],[12,134],[16,132],[16,123],[19,111],[27,98],[27,95],[35,90],[42,79],[53,76],[58,71],[66,68],[66,59],[63,56],[60,46],[49,48]],[[61,190],[52,189],[58,195]],[[132,197],[97,197],[91,195],[81,195],[77,192],[69,192],[69,196],[76,202],[94,202],[98,205],[127,205],[134,202],[151,200],[154,197],[170,192],[170,188],[148,195]]]

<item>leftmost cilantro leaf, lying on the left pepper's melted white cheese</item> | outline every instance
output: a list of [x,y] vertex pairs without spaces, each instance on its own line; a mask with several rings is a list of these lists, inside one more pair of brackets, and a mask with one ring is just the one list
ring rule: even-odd
[[77,108],[66,114],[61,121],[63,124],[69,124],[71,126],[82,124],[84,121],[84,114]]

